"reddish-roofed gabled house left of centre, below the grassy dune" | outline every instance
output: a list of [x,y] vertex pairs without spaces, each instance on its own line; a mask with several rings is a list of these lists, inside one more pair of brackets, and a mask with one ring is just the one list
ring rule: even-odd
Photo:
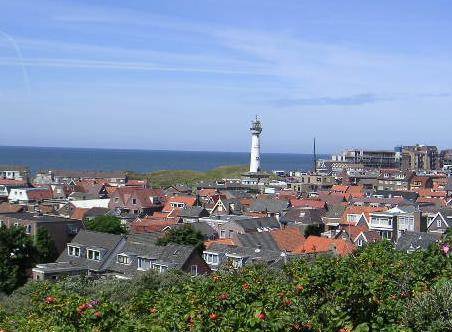
[[164,195],[160,189],[119,187],[111,194],[108,208],[123,219],[151,215],[163,207]]

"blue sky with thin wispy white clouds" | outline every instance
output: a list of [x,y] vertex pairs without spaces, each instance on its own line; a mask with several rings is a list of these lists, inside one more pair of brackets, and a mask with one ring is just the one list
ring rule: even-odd
[[0,145],[452,147],[449,0],[0,0]]

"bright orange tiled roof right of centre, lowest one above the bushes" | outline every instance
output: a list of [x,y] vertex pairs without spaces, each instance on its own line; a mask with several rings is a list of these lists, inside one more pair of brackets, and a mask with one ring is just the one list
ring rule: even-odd
[[305,242],[297,248],[300,253],[329,252],[336,249],[340,256],[352,253],[356,247],[353,243],[342,239],[329,239],[321,236],[309,236]]

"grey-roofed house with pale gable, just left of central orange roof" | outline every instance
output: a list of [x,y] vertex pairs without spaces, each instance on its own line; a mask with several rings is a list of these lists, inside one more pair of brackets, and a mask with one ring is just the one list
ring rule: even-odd
[[274,217],[238,219],[218,225],[221,239],[235,239],[238,234],[269,232],[280,228],[278,220]]

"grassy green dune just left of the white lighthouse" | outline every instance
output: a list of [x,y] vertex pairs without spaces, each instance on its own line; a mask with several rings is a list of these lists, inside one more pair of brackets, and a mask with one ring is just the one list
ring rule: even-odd
[[176,184],[193,186],[201,181],[215,181],[224,178],[237,178],[247,172],[247,166],[221,166],[207,172],[190,170],[163,170],[149,174],[129,174],[131,179],[147,178],[155,187],[168,187]]

